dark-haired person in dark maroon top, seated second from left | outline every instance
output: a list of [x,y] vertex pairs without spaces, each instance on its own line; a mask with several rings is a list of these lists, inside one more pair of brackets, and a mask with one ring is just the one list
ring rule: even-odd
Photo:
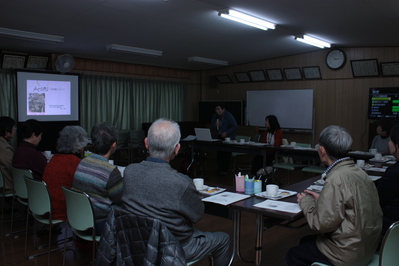
[[15,150],[12,166],[31,170],[35,179],[42,180],[47,158],[36,147],[42,140],[43,125],[35,119],[29,119],[22,124],[18,133],[22,141]]

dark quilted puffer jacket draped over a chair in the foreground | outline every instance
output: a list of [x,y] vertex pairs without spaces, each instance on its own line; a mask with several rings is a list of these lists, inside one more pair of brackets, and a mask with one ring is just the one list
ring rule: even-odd
[[112,207],[106,221],[96,265],[186,265],[179,241],[159,220]]

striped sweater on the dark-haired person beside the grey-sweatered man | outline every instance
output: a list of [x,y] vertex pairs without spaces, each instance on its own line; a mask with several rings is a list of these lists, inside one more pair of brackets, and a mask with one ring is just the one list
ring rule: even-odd
[[122,203],[121,173],[116,166],[108,163],[107,158],[95,153],[79,163],[72,188],[90,196],[96,223],[107,218],[112,204]]

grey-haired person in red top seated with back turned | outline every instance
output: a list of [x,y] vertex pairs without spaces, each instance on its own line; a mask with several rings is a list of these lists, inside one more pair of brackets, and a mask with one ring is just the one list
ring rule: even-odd
[[44,169],[43,181],[50,192],[53,219],[66,221],[66,204],[61,186],[72,187],[80,154],[87,145],[87,133],[80,126],[66,126],[57,140],[57,154]]

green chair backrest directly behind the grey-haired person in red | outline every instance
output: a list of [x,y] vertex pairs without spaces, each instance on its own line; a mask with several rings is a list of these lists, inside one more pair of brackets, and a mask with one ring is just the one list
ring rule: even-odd
[[51,199],[47,185],[44,181],[34,180],[24,176],[28,190],[28,205],[33,214],[44,215],[51,213]]

